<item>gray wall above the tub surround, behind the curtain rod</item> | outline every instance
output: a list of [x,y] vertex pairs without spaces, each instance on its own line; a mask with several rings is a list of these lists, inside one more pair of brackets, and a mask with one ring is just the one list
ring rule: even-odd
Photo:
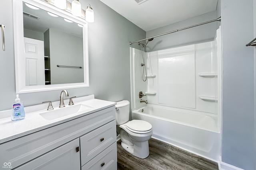
[[[200,16],[196,16],[188,20],[183,20],[170,25],[166,25],[164,27],[160,27],[158,29],[147,31],[146,37],[152,37],[154,35],[167,33],[170,31],[174,31],[174,30],[195,25],[198,23],[215,20],[216,18],[217,18],[216,11],[208,12],[206,14],[202,14]],[[146,51],[147,52],[158,51],[162,49],[169,49],[169,48],[179,47],[183,45],[190,45],[194,43],[203,43],[207,41],[212,41],[214,39],[214,36],[216,35],[217,24],[219,23],[212,22],[212,23],[200,25],[197,27],[193,27],[190,29],[185,29],[182,31],[170,33],[164,36],[155,37],[154,40],[150,41],[146,46]]]

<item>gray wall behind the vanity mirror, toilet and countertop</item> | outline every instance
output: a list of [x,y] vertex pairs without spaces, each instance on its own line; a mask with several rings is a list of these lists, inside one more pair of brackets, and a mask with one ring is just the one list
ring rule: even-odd
[[[86,9],[87,4],[91,4],[95,15],[95,22],[88,24],[90,87],[67,89],[68,93],[70,96],[95,94],[95,98],[114,102],[130,101],[129,42],[145,38],[146,32],[100,0],[80,2],[83,9]],[[0,19],[1,23],[6,25],[6,51],[0,50],[1,111],[10,109],[16,98],[11,0],[1,0]],[[136,44],[132,47],[140,48]],[[24,106],[40,104],[48,100],[57,101],[60,99],[60,91],[20,94],[20,99],[24,101]]]

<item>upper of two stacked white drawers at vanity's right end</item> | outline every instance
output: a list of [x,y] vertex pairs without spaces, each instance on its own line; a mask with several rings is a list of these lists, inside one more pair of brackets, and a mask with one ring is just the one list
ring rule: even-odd
[[86,164],[114,142],[116,142],[116,120],[80,137],[81,165]]

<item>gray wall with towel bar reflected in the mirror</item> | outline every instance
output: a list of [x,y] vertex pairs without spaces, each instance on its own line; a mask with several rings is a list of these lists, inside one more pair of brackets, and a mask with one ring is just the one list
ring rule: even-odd
[[[84,82],[82,37],[64,33],[52,28],[49,30],[51,84]],[[82,68],[57,67],[57,65],[82,66]]]

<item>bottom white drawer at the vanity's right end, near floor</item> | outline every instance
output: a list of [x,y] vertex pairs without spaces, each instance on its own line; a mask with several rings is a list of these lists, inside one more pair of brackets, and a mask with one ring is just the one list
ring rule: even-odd
[[117,151],[116,142],[103,150],[100,154],[82,166],[81,170],[116,170]]

